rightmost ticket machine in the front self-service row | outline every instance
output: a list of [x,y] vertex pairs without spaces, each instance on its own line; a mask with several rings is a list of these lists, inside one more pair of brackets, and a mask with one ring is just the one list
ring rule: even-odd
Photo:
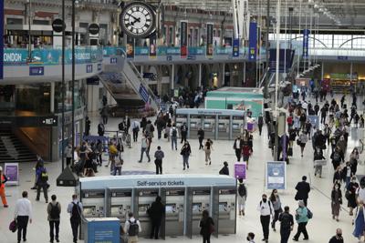
[[218,189],[218,234],[235,234],[236,187]]

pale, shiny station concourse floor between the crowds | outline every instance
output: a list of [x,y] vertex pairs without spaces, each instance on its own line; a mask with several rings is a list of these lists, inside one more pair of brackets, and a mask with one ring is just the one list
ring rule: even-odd
[[[339,97],[340,98],[340,97]],[[338,100],[339,100],[338,98]],[[349,98],[348,98],[349,99]],[[361,99],[362,100],[362,99]],[[152,119],[152,122],[154,119]],[[120,118],[110,118],[109,123],[106,126],[107,130],[116,130]],[[96,134],[97,125],[99,123],[99,117],[91,116],[91,134]],[[363,132],[362,132],[363,133]],[[353,147],[359,146],[359,135],[355,128],[351,129],[349,137],[349,152]],[[155,132],[155,136],[157,132]],[[206,137],[208,138],[208,137]],[[237,214],[237,233],[229,236],[219,236],[219,238],[212,237],[212,242],[231,242],[242,243],[246,242],[246,235],[248,232],[255,233],[255,242],[261,242],[263,238],[262,229],[260,225],[259,212],[256,211],[257,204],[261,199],[261,195],[266,193],[269,195],[271,191],[267,191],[264,188],[265,177],[265,163],[266,161],[272,161],[271,150],[267,147],[267,133],[266,127],[263,128],[263,134],[260,137],[258,132],[254,133],[254,153],[250,157],[249,170],[247,171],[247,201],[245,208],[245,217],[238,216]],[[161,146],[165,153],[163,159],[163,173],[164,174],[218,174],[218,171],[223,167],[223,162],[227,161],[229,164],[230,174],[234,172],[235,163],[235,151],[233,149],[233,141],[218,140],[214,141],[212,152],[212,166],[205,166],[204,152],[198,150],[197,139],[189,140],[192,146],[192,157],[190,157],[190,168],[183,170],[183,160],[180,156],[180,144],[178,144],[178,150],[172,150],[171,144],[166,139],[157,140],[157,137],[153,139],[151,145],[151,157],[156,150],[157,146]],[[180,142],[180,141],[178,141]],[[142,163],[137,161],[140,158],[141,149],[141,132],[138,143],[131,144],[131,148],[125,147],[123,154],[124,165],[122,170],[148,170],[155,171],[154,163],[147,163],[147,158],[143,158]],[[329,158],[329,150],[325,152],[325,157]],[[364,153],[365,154],[365,153]],[[361,155],[360,160],[364,161],[364,154]],[[105,157],[107,159],[107,157]],[[309,240],[306,242],[315,243],[327,243],[329,238],[335,235],[336,228],[342,228],[343,237],[346,243],[358,242],[357,238],[352,236],[353,226],[351,226],[351,217],[348,214],[347,200],[343,198],[344,204],[339,214],[339,222],[336,222],[331,217],[330,207],[330,192],[332,186],[333,167],[328,160],[328,166],[323,168],[322,178],[314,177],[313,170],[313,152],[311,143],[308,142],[305,148],[304,157],[300,157],[300,149],[297,145],[294,147],[294,157],[290,157],[290,164],[287,166],[287,190],[279,191],[281,201],[284,206],[289,206],[291,213],[294,213],[297,208],[297,202],[294,200],[296,193],[295,186],[297,182],[301,180],[301,177],[308,176],[308,181],[311,183],[312,190],[308,198],[308,208],[310,208],[314,214],[313,219],[308,223],[308,235]],[[104,162],[106,163],[106,162]],[[8,226],[12,218],[14,218],[14,206],[16,199],[21,197],[21,192],[27,190],[29,192],[29,199],[33,206],[33,224],[28,225],[27,228],[27,242],[30,243],[43,243],[49,242],[49,227],[47,223],[47,204],[43,194],[41,194],[40,201],[36,201],[36,191],[30,190],[34,183],[34,167],[33,163],[26,163],[20,165],[20,184],[17,187],[6,187],[6,196],[8,200],[9,208],[3,208],[0,206],[0,242],[16,242],[16,234],[9,231]],[[56,178],[61,172],[61,163],[47,163],[46,164],[49,173],[49,183],[51,187],[48,191],[48,197],[52,194],[57,195],[57,200],[61,203],[61,223],[60,223],[60,235],[61,242],[72,242],[72,231],[69,224],[69,215],[66,212],[68,203],[71,200],[71,195],[74,193],[73,187],[56,187]],[[99,173],[97,177],[101,175],[109,175],[110,168],[99,167]],[[359,165],[358,174],[365,175],[364,165]],[[344,195],[344,194],[343,194]],[[198,226],[196,226],[198,227]],[[142,229],[143,230],[143,229]],[[290,235],[289,242],[292,242],[291,238],[297,232],[297,224]],[[303,236],[299,238],[302,240]],[[202,242],[200,236],[194,236],[190,238],[169,238],[163,240],[153,240],[140,238],[140,242]],[[79,242],[83,242],[80,240]],[[270,229],[269,242],[280,242],[279,224],[276,223],[276,232]]]

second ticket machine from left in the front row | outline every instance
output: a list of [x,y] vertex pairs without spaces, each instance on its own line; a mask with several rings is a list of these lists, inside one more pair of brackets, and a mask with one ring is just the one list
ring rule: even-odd
[[128,214],[132,211],[132,190],[121,188],[107,189],[108,207],[107,217],[120,218],[120,222],[124,223]]

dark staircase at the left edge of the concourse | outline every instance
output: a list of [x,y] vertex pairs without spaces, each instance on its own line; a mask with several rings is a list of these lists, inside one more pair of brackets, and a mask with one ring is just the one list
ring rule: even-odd
[[10,127],[0,127],[0,162],[35,162],[36,155],[31,152],[13,133]]

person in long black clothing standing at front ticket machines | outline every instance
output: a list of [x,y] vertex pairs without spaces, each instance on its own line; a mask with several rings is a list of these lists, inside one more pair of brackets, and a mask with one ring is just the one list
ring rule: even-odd
[[165,206],[161,202],[161,197],[157,196],[155,201],[151,204],[151,208],[147,213],[151,219],[151,234],[150,238],[158,239],[162,218],[165,214]]

